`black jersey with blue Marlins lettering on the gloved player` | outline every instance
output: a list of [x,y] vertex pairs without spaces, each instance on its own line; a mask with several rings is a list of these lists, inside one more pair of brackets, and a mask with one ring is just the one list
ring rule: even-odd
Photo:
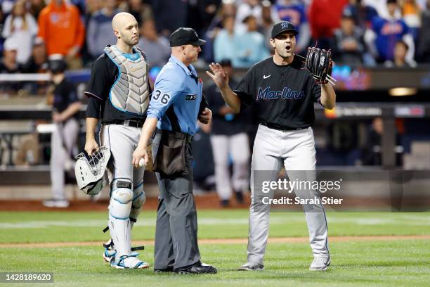
[[249,69],[235,93],[241,109],[254,103],[259,122],[294,129],[313,125],[313,103],[320,101],[321,88],[299,57],[289,65],[276,65],[271,57]]

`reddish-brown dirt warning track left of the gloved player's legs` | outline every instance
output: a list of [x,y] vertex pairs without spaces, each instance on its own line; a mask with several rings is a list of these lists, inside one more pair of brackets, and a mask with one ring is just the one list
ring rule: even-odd
[[[197,209],[219,209],[219,203],[216,193],[208,193],[203,196],[194,196]],[[245,203],[237,204],[235,200],[231,200],[231,205],[228,208],[248,208],[249,196],[245,196]],[[0,211],[105,211],[109,202],[107,200],[99,200],[93,202],[91,200],[72,200],[68,208],[46,208],[42,205],[41,200],[0,200]],[[157,198],[147,198],[144,208],[145,210],[157,210]]]

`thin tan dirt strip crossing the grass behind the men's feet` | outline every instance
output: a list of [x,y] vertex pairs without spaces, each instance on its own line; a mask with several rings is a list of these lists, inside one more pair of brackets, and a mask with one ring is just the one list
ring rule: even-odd
[[[330,242],[347,241],[397,241],[397,240],[430,240],[430,235],[412,236],[331,236]],[[308,237],[273,237],[269,243],[308,243]],[[247,238],[200,239],[200,244],[247,244]],[[154,245],[154,241],[134,241],[136,245]],[[98,246],[100,241],[86,242],[51,242],[51,243],[0,243],[0,248],[56,248],[76,246]]]

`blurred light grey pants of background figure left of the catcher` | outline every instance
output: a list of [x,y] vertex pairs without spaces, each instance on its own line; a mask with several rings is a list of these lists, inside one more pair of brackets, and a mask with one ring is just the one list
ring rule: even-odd
[[72,164],[72,148],[78,134],[79,122],[74,117],[55,124],[51,134],[51,188],[54,199],[67,199],[64,192],[65,165]]

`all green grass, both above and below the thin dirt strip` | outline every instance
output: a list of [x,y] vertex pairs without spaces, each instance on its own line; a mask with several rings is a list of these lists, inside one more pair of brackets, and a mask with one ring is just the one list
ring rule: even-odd
[[[0,212],[0,243],[105,241],[107,212]],[[246,238],[247,210],[200,210],[200,238]],[[429,213],[327,213],[330,236],[429,235]],[[133,238],[152,239],[155,211],[143,212]],[[273,212],[271,237],[307,236],[301,212]],[[309,272],[306,243],[271,243],[266,270],[237,272],[246,244],[201,244],[213,276],[153,274],[152,269],[117,270],[102,260],[102,247],[1,248],[0,272],[53,272],[55,286],[428,286],[430,241],[332,242],[332,267]],[[153,264],[153,245],[141,257]],[[41,284],[44,286],[47,284]],[[19,286],[18,284],[14,286]],[[38,285],[39,286],[39,285]],[[52,286],[52,284],[50,285]]]

